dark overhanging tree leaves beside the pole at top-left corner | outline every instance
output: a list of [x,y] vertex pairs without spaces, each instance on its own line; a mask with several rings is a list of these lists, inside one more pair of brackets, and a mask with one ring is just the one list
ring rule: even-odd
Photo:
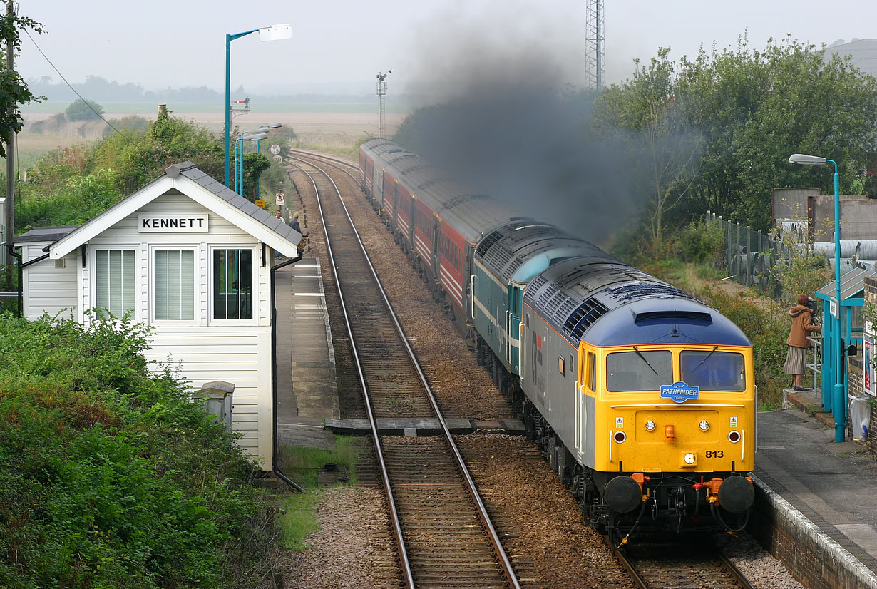
[[[11,0],[6,0],[6,2],[11,2]],[[0,36],[11,42],[14,49],[21,46],[21,38],[18,36],[19,29],[44,32],[43,25],[32,18],[4,11],[4,16],[0,18]],[[39,102],[44,98],[44,96],[33,96],[31,91],[27,89],[24,79],[15,70],[0,70],[0,139],[3,140],[3,144],[0,144],[0,157],[6,157],[4,145],[9,144],[12,134],[21,131],[23,124],[21,105]]]

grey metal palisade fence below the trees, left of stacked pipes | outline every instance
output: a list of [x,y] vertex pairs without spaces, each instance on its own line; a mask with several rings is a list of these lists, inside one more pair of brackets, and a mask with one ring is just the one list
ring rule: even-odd
[[781,286],[774,280],[774,265],[789,259],[788,247],[770,236],[707,211],[707,224],[724,232],[724,259],[728,277],[747,287],[758,286],[777,298]]

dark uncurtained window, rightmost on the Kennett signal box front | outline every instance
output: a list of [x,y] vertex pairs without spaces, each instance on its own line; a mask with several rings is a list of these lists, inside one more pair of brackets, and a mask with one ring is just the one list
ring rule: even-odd
[[253,319],[253,250],[213,250],[213,318]]

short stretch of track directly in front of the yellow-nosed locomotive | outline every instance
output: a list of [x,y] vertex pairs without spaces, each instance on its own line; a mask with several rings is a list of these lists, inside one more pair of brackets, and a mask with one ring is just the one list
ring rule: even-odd
[[709,543],[642,542],[616,551],[641,589],[753,589],[721,551]]

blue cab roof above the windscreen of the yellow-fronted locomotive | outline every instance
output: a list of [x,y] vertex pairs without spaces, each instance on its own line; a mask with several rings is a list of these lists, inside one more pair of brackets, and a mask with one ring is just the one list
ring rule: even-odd
[[612,309],[597,319],[582,339],[599,346],[752,345],[743,331],[716,309],[675,296],[640,299]]

